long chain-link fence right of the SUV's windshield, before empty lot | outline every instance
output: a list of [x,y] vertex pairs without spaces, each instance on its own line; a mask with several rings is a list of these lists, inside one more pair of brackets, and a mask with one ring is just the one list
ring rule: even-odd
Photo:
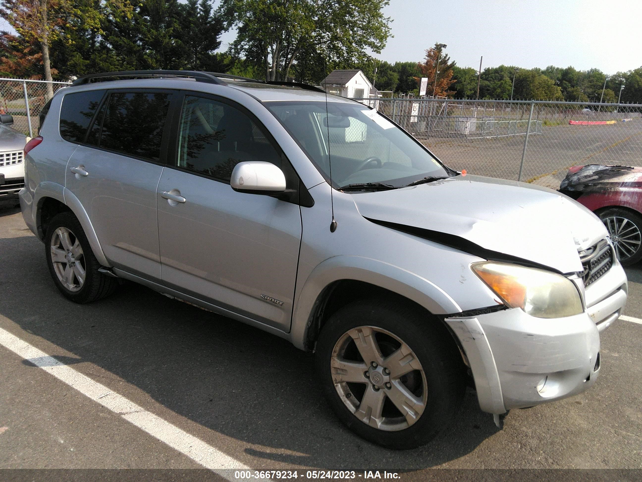
[[559,188],[570,166],[642,166],[642,105],[362,99],[469,174]]

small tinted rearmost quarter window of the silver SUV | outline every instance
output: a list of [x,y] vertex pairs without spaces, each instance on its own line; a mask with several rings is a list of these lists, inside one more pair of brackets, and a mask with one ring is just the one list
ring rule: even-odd
[[60,108],[60,136],[65,141],[85,141],[85,134],[105,91],[67,94]]

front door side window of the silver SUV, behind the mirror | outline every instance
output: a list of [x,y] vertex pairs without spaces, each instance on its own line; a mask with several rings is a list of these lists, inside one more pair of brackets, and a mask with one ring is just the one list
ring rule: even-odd
[[281,156],[265,132],[236,107],[186,96],[180,118],[178,167],[229,181],[243,161],[281,166]]

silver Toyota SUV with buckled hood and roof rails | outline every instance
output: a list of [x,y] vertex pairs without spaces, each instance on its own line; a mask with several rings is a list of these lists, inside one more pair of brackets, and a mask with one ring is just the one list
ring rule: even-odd
[[499,424],[598,376],[627,278],[560,193],[456,172],[306,85],[94,75],[43,117],[20,199],[60,292],[87,303],[132,280],[313,350],[363,438],[428,442],[466,384]]

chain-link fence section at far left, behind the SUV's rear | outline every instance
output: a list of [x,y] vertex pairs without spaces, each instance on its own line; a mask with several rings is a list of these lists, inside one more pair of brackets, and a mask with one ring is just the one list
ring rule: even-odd
[[0,78],[0,114],[13,116],[13,129],[33,137],[45,103],[65,82]]

